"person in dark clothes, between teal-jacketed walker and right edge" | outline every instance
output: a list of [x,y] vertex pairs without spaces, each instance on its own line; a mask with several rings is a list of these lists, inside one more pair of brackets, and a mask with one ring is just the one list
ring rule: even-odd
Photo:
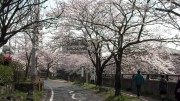
[[161,101],[164,101],[167,94],[167,80],[165,79],[164,75],[161,75],[159,82],[159,94],[161,95]]

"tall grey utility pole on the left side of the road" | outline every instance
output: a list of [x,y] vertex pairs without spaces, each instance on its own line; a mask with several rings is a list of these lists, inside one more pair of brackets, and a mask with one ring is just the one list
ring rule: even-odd
[[[35,4],[38,4],[40,0],[34,0]],[[38,27],[39,23],[39,5],[34,7],[33,18],[36,23],[33,26],[33,36],[32,36],[32,57],[31,57],[31,79],[32,81],[37,80],[37,68],[36,68],[36,50],[37,50],[37,41],[38,41]]]

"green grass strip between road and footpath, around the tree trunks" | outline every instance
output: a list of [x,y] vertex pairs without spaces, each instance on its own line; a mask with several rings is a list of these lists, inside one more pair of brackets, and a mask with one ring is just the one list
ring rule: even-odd
[[141,99],[137,99],[136,97],[129,96],[126,94],[121,94],[120,96],[114,96],[115,91],[113,89],[110,89],[109,91],[105,92],[99,91],[99,86],[93,85],[93,84],[87,84],[87,83],[78,83],[78,82],[71,82],[71,84],[80,86],[82,88],[88,89],[93,91],[94,93],[98,94],[99,96],[106,99],[106,101],[143,101]]

